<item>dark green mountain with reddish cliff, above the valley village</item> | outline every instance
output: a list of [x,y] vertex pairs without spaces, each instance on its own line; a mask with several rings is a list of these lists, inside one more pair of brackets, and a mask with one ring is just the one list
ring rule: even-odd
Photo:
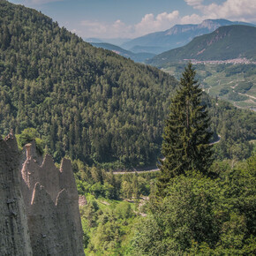
[[256,59],[256,27],[221,26],[211,34],[194,38],[184,47],[171,49],[150,59],[147,64],[157,66],[187,59],[229,60],[245,57]]

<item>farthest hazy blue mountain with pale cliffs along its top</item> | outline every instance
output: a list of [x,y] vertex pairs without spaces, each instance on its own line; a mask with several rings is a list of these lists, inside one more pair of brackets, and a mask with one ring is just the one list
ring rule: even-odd
[[159,54],[169,49],[184,46],[189,41],[192,41],[194,37],[211,33],[220,26],[230,25],[255,26],[249,23],[230,21],[227,19],[206,19],[201,24],[176,25],[166,31],[146,34],[135,38],[132,41],[124,42],[121,47],[129,50],[136,47],[142,52],[150,47],[151,49],[154,49],[154,51],[150,52]]

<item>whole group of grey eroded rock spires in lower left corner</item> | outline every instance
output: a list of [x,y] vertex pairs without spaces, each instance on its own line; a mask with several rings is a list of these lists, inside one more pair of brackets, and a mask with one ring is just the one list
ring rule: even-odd
[[0,150],[0,255],[84,255],[71,162],[57,169],[49,154],[41,162],[34,143],[22,156],[13,135]]

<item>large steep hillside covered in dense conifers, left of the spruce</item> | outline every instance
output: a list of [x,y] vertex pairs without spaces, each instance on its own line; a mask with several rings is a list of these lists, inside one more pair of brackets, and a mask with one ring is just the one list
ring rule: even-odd
[[0,2],[0,132],[34,127],[57,161],[154,162],[177,81]]

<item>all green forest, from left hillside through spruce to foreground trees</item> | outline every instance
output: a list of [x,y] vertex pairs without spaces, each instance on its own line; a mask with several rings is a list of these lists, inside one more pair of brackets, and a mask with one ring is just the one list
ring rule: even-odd
[[256,254],[256,114],[188,67],[178,82],[0,0],[0,132],[72,159],[87,255]]

